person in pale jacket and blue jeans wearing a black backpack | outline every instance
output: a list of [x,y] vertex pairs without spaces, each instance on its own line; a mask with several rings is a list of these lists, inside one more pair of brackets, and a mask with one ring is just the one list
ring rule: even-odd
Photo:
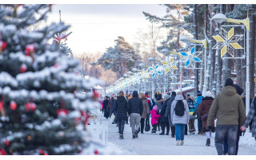
[[178,91],[174,102],[171,104],[170,116],[175,125],[176,146],[182,146],[184,144],[185,126],[190,120],[190,112],[181,91]]

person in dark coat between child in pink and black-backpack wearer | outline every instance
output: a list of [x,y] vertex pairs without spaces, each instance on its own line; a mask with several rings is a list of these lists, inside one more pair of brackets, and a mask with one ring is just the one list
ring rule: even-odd
[[166,107],[167,107],[167,102],[170,100],[170,95],[166,94],[165,97],[166,99],[165,102],[163,102],[162,105],[162,110],[160,111],[160,122],[161,122],[161,129],[162,129],[162,133],[160,135],[164,135],[165,134],[165,130],[166,130],[166,135],[169,135],[170,132],[170,125],[169,125],[169,120],[168,117],[166,117]]

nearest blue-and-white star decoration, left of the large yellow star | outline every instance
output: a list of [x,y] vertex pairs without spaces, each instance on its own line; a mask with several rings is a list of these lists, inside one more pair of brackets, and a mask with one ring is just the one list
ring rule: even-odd
[[195,62],[202,62],[202,60],[198,58],[198,56],[202,54],[202,51],[195,51],[195,46],[188,52],[181,52],[181,54],[181,61],[185,61],[187,69],[195,69]]

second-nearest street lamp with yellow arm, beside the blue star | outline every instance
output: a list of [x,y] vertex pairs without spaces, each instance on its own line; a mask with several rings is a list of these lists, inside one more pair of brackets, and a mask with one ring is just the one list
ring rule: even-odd
[[203,89],[202,89],[202,94],[206,94],[206,66],[207,66],[207,62],[206,62],[206,53],[207,53],[207,40],[203,39],[203,40],[196,40],[196,39],[191,39],[188,36],[182,36],[180,38],[181,41],[183,42],[195,42],[195,43],[201,43],[205,49],[205,54],[204,54],[204,61],[205,61],[205,66],[204,66],[204,83],[203,83]]

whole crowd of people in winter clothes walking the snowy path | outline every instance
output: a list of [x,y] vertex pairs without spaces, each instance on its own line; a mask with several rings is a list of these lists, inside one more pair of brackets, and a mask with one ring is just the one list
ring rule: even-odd
[[[176,138],[176,145],[184,145],[184,135],[195,134],[194,120],[198,120],[198,134],[206,136],[206,146],[210,146],[211,133],[215,132],[215,147],[219,155],[238,154],[238,141],[242,132],[250,126],[250,132],[256,140],[256,100],[250,98],[250,111],[246,118],[243,90],[228,78],[222,92],[213,98],[210,91],[204,96],[198,91],[197,98],[185,96],[181,91],[167,93],[164,98],[159,92],[150,98],[148,93],[134,90],[133,94],[118,93],[118,97],[105,97],[102,100],[104,117],[114,114],[113,124],[117,124],[119,138],[123,139],[125,124],[132,127],[132,138],[138,133],[149,131],[151,119],[152,134],[157,130],[160,135]],[[215,126],[215,119],[216,126]]]

